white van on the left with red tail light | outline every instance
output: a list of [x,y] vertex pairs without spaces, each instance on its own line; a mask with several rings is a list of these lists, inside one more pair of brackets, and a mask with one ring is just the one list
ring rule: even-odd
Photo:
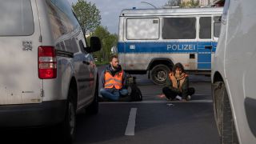
[[74,138],[76,111],[98,112],[98,74],[66,0],[0,0],[0,126],[62,123]]

